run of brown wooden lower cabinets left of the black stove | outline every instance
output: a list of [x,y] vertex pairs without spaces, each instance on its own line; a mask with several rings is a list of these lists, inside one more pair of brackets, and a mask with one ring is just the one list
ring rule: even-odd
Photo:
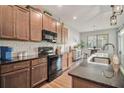
[[0,87],[30,88],[47,80],[47,57],[0,65]]

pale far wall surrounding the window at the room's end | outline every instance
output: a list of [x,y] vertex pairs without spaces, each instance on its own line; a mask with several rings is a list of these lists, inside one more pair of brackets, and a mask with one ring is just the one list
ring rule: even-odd
[[[117,29],[108,29],[108,30],[101,30],[101,31],[91,31],[91,32],[82,32],[80,33],[80,39],[85,42],[87,47],[87,37],[90,35],[98,35],[98,34],[108,34],[109,35],[109,43],[114,44],[117,49]],[[109,48],[112,52],[112,48]]]

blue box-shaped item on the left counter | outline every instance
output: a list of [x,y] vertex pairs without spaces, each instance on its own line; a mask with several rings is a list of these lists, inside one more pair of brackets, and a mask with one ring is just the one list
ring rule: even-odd
[[8,46],[0,46],[0,60],[11,61],[12,60],[12,48]]

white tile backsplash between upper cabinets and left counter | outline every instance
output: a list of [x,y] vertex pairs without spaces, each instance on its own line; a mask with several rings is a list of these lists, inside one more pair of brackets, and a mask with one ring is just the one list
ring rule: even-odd
[[13,40],[0,40],[0,46],[9,46],[13,48],[13,57],[17,56],[18,52],[26,51],[28,55],[37,55],[38,47],[51,46],[56,49],[56,47],[61,46],[62,50],[64,45],[49,43],[46,41],[42,42],[27,42],[27,41],[13,41]]

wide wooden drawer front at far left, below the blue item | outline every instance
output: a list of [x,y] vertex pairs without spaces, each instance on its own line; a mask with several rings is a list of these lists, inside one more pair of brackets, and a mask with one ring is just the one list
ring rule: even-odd
[[1,73],[7,73],[30,66],[30,61],[1,65]]

